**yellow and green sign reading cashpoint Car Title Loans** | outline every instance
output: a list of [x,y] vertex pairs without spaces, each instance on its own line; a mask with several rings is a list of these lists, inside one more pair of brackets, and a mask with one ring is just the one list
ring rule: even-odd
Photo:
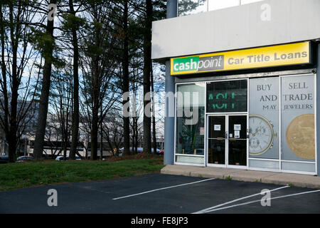
[[311,63],[311,43],[290,43],[223,53],[171,58],[171,75]]

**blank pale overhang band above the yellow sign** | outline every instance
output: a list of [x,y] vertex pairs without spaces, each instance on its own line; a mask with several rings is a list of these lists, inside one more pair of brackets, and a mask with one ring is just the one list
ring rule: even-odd
[[271,46],[320,38],[319,0],[265,0],[154,21],[152,56],[178,56]]

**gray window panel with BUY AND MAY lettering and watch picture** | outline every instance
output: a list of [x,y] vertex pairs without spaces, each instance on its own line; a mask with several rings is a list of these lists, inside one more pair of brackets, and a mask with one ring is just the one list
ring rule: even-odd
[[279,77],[250,79],[249,157],[279,160]]

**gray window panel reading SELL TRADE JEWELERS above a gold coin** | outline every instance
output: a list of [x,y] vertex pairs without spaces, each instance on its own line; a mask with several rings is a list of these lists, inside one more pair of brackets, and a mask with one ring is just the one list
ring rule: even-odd
[[282,78],[282,160],[315,161],[314,75]]

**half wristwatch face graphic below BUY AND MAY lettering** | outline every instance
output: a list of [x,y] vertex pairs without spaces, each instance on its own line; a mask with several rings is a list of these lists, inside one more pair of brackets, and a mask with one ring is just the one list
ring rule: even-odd
[[249,154],[262,155],[272,148],[277,133],[273,124],[262,115],[249,115]]

